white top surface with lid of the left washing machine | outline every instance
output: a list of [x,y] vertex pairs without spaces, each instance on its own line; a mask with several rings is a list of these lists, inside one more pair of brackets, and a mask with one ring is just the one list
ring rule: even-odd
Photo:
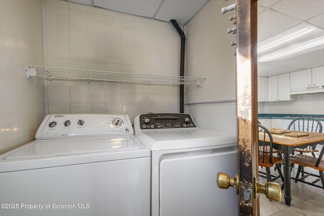
[[35,140],[0,155],[0,172],[149,157],[132,137]]

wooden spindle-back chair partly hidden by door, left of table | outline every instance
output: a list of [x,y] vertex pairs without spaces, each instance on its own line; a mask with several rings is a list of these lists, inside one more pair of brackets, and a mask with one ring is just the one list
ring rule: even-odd
[[[281,190],[284,190],[284,176],[282,176],[281,167],[279,165],[282,162],[282,158],[273,155],[273,140],[269,130],[262,124],[258,124],[258,126],[259,129],[262,129],[262,131],[259,132],[259,136],[262,136],[259,137],[259,166],[266,168],[266,173],[265,173],[266,176],[264,177],[260,175],[260,174],[264,174],[261,171],[259,171],[259,176],[266,178],[267,182],[274,182],[278,178],[281,178],[282,180]],[[266,140],[268,141],[266,142]],[[268,150],[268,153],[266,152],[266,150]],[[270,167],[273,166],[277,168],[277,171],[279,173],[279,175],[276,177],[270,174]]]

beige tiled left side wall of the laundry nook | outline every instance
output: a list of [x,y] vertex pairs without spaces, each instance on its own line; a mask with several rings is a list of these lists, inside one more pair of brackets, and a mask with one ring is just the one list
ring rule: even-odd
[[0,1],[0,154],[34,140],[44,118],[43,79],[23,63],[43,64],[41,0]]

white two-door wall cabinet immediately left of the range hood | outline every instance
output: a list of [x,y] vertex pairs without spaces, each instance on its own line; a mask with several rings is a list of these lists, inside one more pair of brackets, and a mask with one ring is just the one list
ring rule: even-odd
[[268,101],[293,101],[290,95],[290,74],[284,73],[268,77]]

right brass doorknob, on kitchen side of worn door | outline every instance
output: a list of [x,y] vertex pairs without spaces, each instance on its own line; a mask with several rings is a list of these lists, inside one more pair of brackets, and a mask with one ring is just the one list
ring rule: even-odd
[[265,196],[275,202],[281,201],[281,188],[280,185],[274,182],[266,182],[264,185],[260,184],[258,179],[254,177],[255,197],[265,194]]

